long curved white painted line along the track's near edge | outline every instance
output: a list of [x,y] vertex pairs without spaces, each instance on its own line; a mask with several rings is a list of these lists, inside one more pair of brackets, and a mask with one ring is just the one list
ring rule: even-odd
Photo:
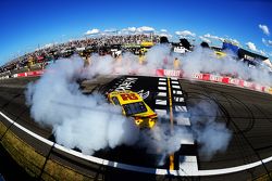
[[[29,135],[32,135],[33,138],[48,144],[49,146],[53,146],[53,142],[32,132],[30,130],[24,128],[23,126],[21,126],[20,124],[13,121],[10,117],[8,117],[5,114],[3,114],[2,112],[0,112],[0,115],[5,118],[8,121],[10,121],[11,124],[13,124],[15,127],[17,127],[18,129],[21,129],[22,131],[28,133]],[[109,166],[109,167],[115,167],[115,168],[120,168],[120,169],[125,169],[125,170],[131,170],[131,171],[137,171],[137,172],[146,172],[146,173],[156,173],[156,174],[173,174],[173,176],[217,176],[217,174],[226,174],[226,173],[233,173],[233,172],[238,172],[238,171],[243,171],[243,170],[247,170],[257,166],[260,166],[262,164],[269,163],[272,160],[272,156],[264,158],[262,160],[259,161],[255,161],[251,164],[247,164],[247,165],[242,165],[242,166],[236,166],[236,167],[230,167],[230,168],[222,168],[222,169],[210,169],[210,170],[191,170],[189,172],[185,172],[184,170],[169,170],[169,169],[157,169],[157,168],[150,168],[150,167],[139,167],[139,166],[133,166],[133,165],[127,165],[127,164],[122,164],[122,163],[116,163],[116,161],[110,161],[107,159],[102,159],[102,158],[98,158],[95,156],[90,156],[90,155],[85,155],[82,154],[79,152],[66,148],[62,145],[59,144],[54,144],[54,147],[74,155],[78,158],[82,159],[86,159],[89,160],[91,163],[95,164],[99,164],[99,165],[104,165],[104,166]],[[185,158],[184,160],[182,160],[183,164],[190,164],[191,160],[189,158]],[[191,158],[193,159],[193,158]],[[186,161],[188,160],[188,161]],[[185,167],[185,166],[184,166]],[[182,168],[184,168],[182,167]]]

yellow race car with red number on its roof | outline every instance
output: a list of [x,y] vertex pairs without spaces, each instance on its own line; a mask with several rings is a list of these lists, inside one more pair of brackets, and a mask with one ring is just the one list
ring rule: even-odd
[[143,98],[133,91],[113,91],[108,94],[113,105],[122,107],[123,115],[133,117],[139,128],[153,128],[157,114],[144,102]]

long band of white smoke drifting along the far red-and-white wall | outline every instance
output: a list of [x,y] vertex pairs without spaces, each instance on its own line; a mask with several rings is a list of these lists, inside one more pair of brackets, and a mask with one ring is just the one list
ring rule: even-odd
[[[94,75],[111,74],[136,74],[156,76],[156,69],[182,69],[185,77],[193,77],[196,73],[211,73],[214,75],[236,76],[244,80],[255,81],[264,86],[272,85],[272,76],[269,68],[249,67],[240,60],[234,59],[232,52],[226,52],[226,56],[218,59],[214,51],[195,47],[190,53],[178,54],[171,52],[168,44],[152,47],[146,54],[144,64],[139,64],[139,57],[132,53],[124,53],[118,60],[112,56],[91,56],[91,65],[86,70]],[[174,60],[180,60],[180,67],[174,67]],[[86,76],[86,75],[85,75]]]

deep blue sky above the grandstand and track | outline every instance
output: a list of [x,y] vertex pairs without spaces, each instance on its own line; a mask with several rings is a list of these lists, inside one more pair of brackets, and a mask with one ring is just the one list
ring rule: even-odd
[[89,29],[150,26],[157,30],[189,30],[251,42],[272,53],[272,0],[1,0],[0,65],[38,44],[83,37]]

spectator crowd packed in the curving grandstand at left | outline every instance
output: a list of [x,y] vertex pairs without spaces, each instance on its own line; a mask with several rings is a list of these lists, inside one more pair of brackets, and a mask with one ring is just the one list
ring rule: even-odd
[[[39,64],[41,67],[48,62],[55,61],[59,57],[69,57],[74,53],[82,56],[88,56],[91,53],[104,54],[106,48],[122,46],[140,46],[141,42],[148,41],[153,44],[159,42],[160,37],[157,35],[115,35],[100,37],[85,37],[84,39],[70,40],[64,43],[51,44],[45,48],[37,49],[34,52],[26,53],[20,57],[11,60],[5,65],[0,67],[0,74],[18,70],[24,67],[30,67]],[[88,51],[87,51],[88,50]]]

